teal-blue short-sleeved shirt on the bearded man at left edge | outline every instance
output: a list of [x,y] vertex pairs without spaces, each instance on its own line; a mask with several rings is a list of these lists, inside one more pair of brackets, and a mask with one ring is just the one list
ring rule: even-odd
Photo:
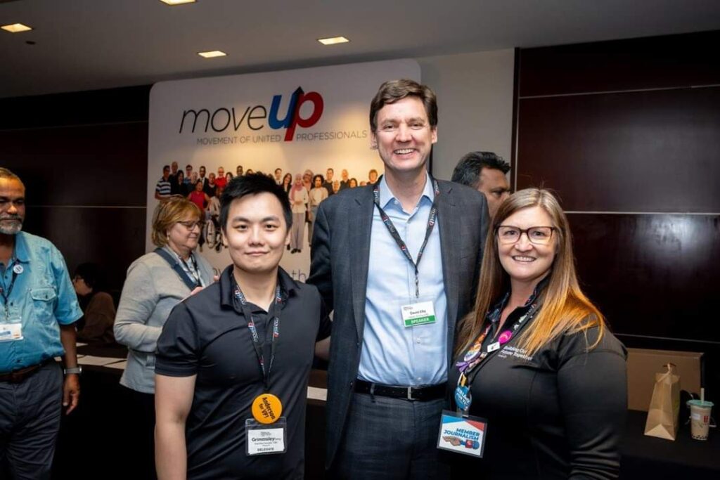
[[[15,273],[16,266],[22,273]],[[9,264],[0,263],[5,292],[15,283],[7,299],[0,297],[0,323],[22,324],[22,340],[0,342],[0,372],[35,365],[65,353],[60,327],[82,317],[78,297],[70,281],[60,250],[45,238],[19,232]]]

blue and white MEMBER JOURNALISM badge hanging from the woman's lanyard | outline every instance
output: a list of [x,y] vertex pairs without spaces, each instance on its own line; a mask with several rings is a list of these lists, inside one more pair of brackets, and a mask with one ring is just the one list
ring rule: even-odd
[[438,448],[482,458],[485,450],[487,420],[443,410],[438,433]]

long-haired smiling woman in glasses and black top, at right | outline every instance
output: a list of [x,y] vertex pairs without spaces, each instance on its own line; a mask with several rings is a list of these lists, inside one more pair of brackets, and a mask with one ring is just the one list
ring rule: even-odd
[[451,454],[453,465],[486,479],[617,478],[626,351],[580,290],[553,194],[526,189],[500,204],[481,272],[456,336],[446,420],[486,422],[459,443],[482,458]]

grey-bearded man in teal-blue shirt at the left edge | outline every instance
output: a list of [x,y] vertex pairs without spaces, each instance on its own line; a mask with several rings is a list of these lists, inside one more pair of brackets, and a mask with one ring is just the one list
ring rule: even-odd
[[24,217],[25,186],[0,168],[0,460],[13,478],[49,479],[60,404],[70,413],[80,397],[82,312],[63,255],[21,232]]

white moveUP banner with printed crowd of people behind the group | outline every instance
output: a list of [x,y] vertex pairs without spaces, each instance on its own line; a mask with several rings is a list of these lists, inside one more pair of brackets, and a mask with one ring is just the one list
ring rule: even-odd
[[[294,218],[302,214],[302,221],[294,222],[292,248],[281,265],[305,281],[311,205],[324,196],[311,191],[312,177],[323,175],[328,194],[343,194],[382,174],[382,161],[370,149],[369,105],[380,84],[394,78],[419,81],[420,66],[392,60],[156,83],[150,91],[147,250],[154,248],[157,196],[181,194],[202,205],[206,221],[197,251],[221,271],[230,255],[220,240],[218,187],[248,171],[277,176],[279,183],[287,177],[291,186],[300,176],[305,193],[290,189],[289,196],[307,197],[307,214],[299,201]],[[169,175],[163,166],[173,167]]]

